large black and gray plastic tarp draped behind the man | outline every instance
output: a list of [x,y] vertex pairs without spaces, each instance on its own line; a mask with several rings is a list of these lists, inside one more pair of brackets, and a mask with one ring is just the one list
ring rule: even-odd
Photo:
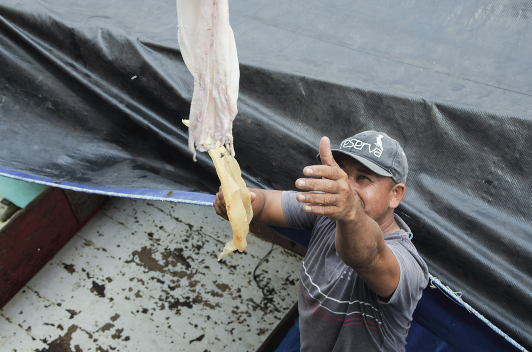
[[[237,160],[292,189],[319,138],[387,132],[430,272],[532,348],[532,1],[230,0]],[[197,190],[193,78],[166,0],[2,0],[0,167],[87,188]],[[61,185],[60,185],[61,186]],[[149,191],[148,191],[149,193]]]

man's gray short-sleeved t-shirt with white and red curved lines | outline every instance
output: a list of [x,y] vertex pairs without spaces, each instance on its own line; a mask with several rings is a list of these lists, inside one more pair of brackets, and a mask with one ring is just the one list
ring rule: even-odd
[[312,230],[300,269],[302,351],[404,351],[412,313],[428,283],[427,265],[409,240],[409,227],[384,236],[401,269],[389,301],[377,296],[342,262],[335,249],[336,223],[305,213],[296,192],[282,192],[282,210],[293,228]]

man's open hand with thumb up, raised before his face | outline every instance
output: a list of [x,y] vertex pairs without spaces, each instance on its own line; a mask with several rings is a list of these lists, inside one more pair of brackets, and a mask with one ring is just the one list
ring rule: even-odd
[[[354,220],[356,217],[355,195],[347,174],[340,169],[331,152],[330,140],[320,140],[321,165],[306,166],[307,177],[296,180],[296,187],[309,192],[297,194],[297,200],[307,213],[324,215],[332,220]],[[320,179],[321,178],[321,179]]]

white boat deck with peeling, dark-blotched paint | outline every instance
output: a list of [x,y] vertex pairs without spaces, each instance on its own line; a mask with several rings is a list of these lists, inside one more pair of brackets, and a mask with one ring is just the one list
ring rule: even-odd
[[211,207],[112,198],[0,311],[0,350],[256,350],[301,257],[275,246],[261,290],[272,245],[217,262],[230,233]]

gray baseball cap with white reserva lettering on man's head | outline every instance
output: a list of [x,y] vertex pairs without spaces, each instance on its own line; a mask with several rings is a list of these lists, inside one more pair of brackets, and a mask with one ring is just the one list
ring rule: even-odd
[[[348,155],[376,174],[391,177],[397,183],[406,182],[408,162],[399,143],[384,132],[364,131],[344,139],[332,156]],[[318,160],[320,155],[318,154]]]

